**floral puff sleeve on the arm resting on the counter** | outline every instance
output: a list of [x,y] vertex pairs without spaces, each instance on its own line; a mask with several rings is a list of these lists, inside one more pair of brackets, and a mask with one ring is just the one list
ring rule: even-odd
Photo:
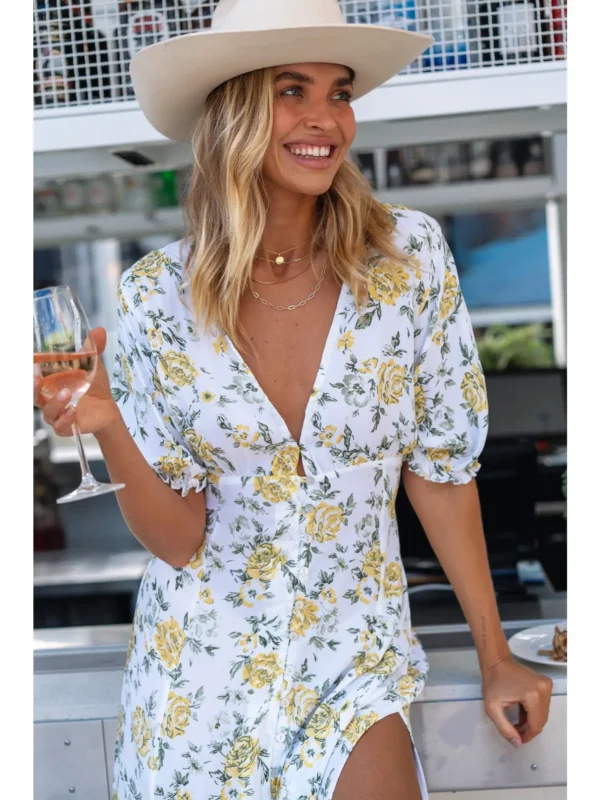
[[436,483],[477,474],[488,430],[485,379],[456,264],[439,224],[425,217],[414,310],[416,445],[408,468]]

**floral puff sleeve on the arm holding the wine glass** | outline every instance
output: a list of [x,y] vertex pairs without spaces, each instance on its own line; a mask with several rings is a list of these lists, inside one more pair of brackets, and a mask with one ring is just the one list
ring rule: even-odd
[[136,307],[127,275],[124,273],[119,283],[112,395],[146,461],[185,497],[192,489],[200,492],[206,488],[208,469],[173,425],[158,378],[160,352],[150,343],[143,307]]

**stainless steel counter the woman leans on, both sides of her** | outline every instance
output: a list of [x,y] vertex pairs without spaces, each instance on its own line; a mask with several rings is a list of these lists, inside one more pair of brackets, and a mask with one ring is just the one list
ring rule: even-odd
[[[511,634],[538,622],[505,628]],[[540,670],[554,681],[550,718],[539,737],[515,750],[485,715],[475,650],[457,646],[465,628],[416,629],[430,673],[411,720],[430,792],[565,786],[566,670]],[[129,631],[122,625],[35,632],[36,800],[66,798],[71,788],[86,800],[108,800]]]

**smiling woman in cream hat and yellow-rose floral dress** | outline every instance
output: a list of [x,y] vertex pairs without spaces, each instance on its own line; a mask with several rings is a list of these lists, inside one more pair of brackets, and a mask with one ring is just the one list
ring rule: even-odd
[[[113,395],[100,370],[77,409],[154,555],[113,796],[415,800],[409,708],[428,665],[400,559],[401,475],[500,733],[530,741],[551,693],[512,660],[495,604],[473,481],[487,401],[454,261],[433,219],[377,203],[348,158],[353,88],[429,40],[350,30],[333,0],[249,9],[224,2],[213,38],[134,61],[159,130],[183,138],[196,119],[195,163],[190,236],[122,277]],[[377,30],[380,71],[365,77]],[[44,411],[64,435],[66,402]],[[517,729],[503,708],[518,701]]]

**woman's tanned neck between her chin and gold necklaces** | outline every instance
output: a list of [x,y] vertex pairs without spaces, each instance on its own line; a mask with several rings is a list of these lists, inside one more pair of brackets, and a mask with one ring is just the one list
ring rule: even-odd
[[296,254],[306,253],[306,243],[317,226],[316,204],[317,198],[309,195],[292,194],[282,189],[272,192],[261,241],[261,255],[274,258],[274,253],[287,250],[287,261]]

